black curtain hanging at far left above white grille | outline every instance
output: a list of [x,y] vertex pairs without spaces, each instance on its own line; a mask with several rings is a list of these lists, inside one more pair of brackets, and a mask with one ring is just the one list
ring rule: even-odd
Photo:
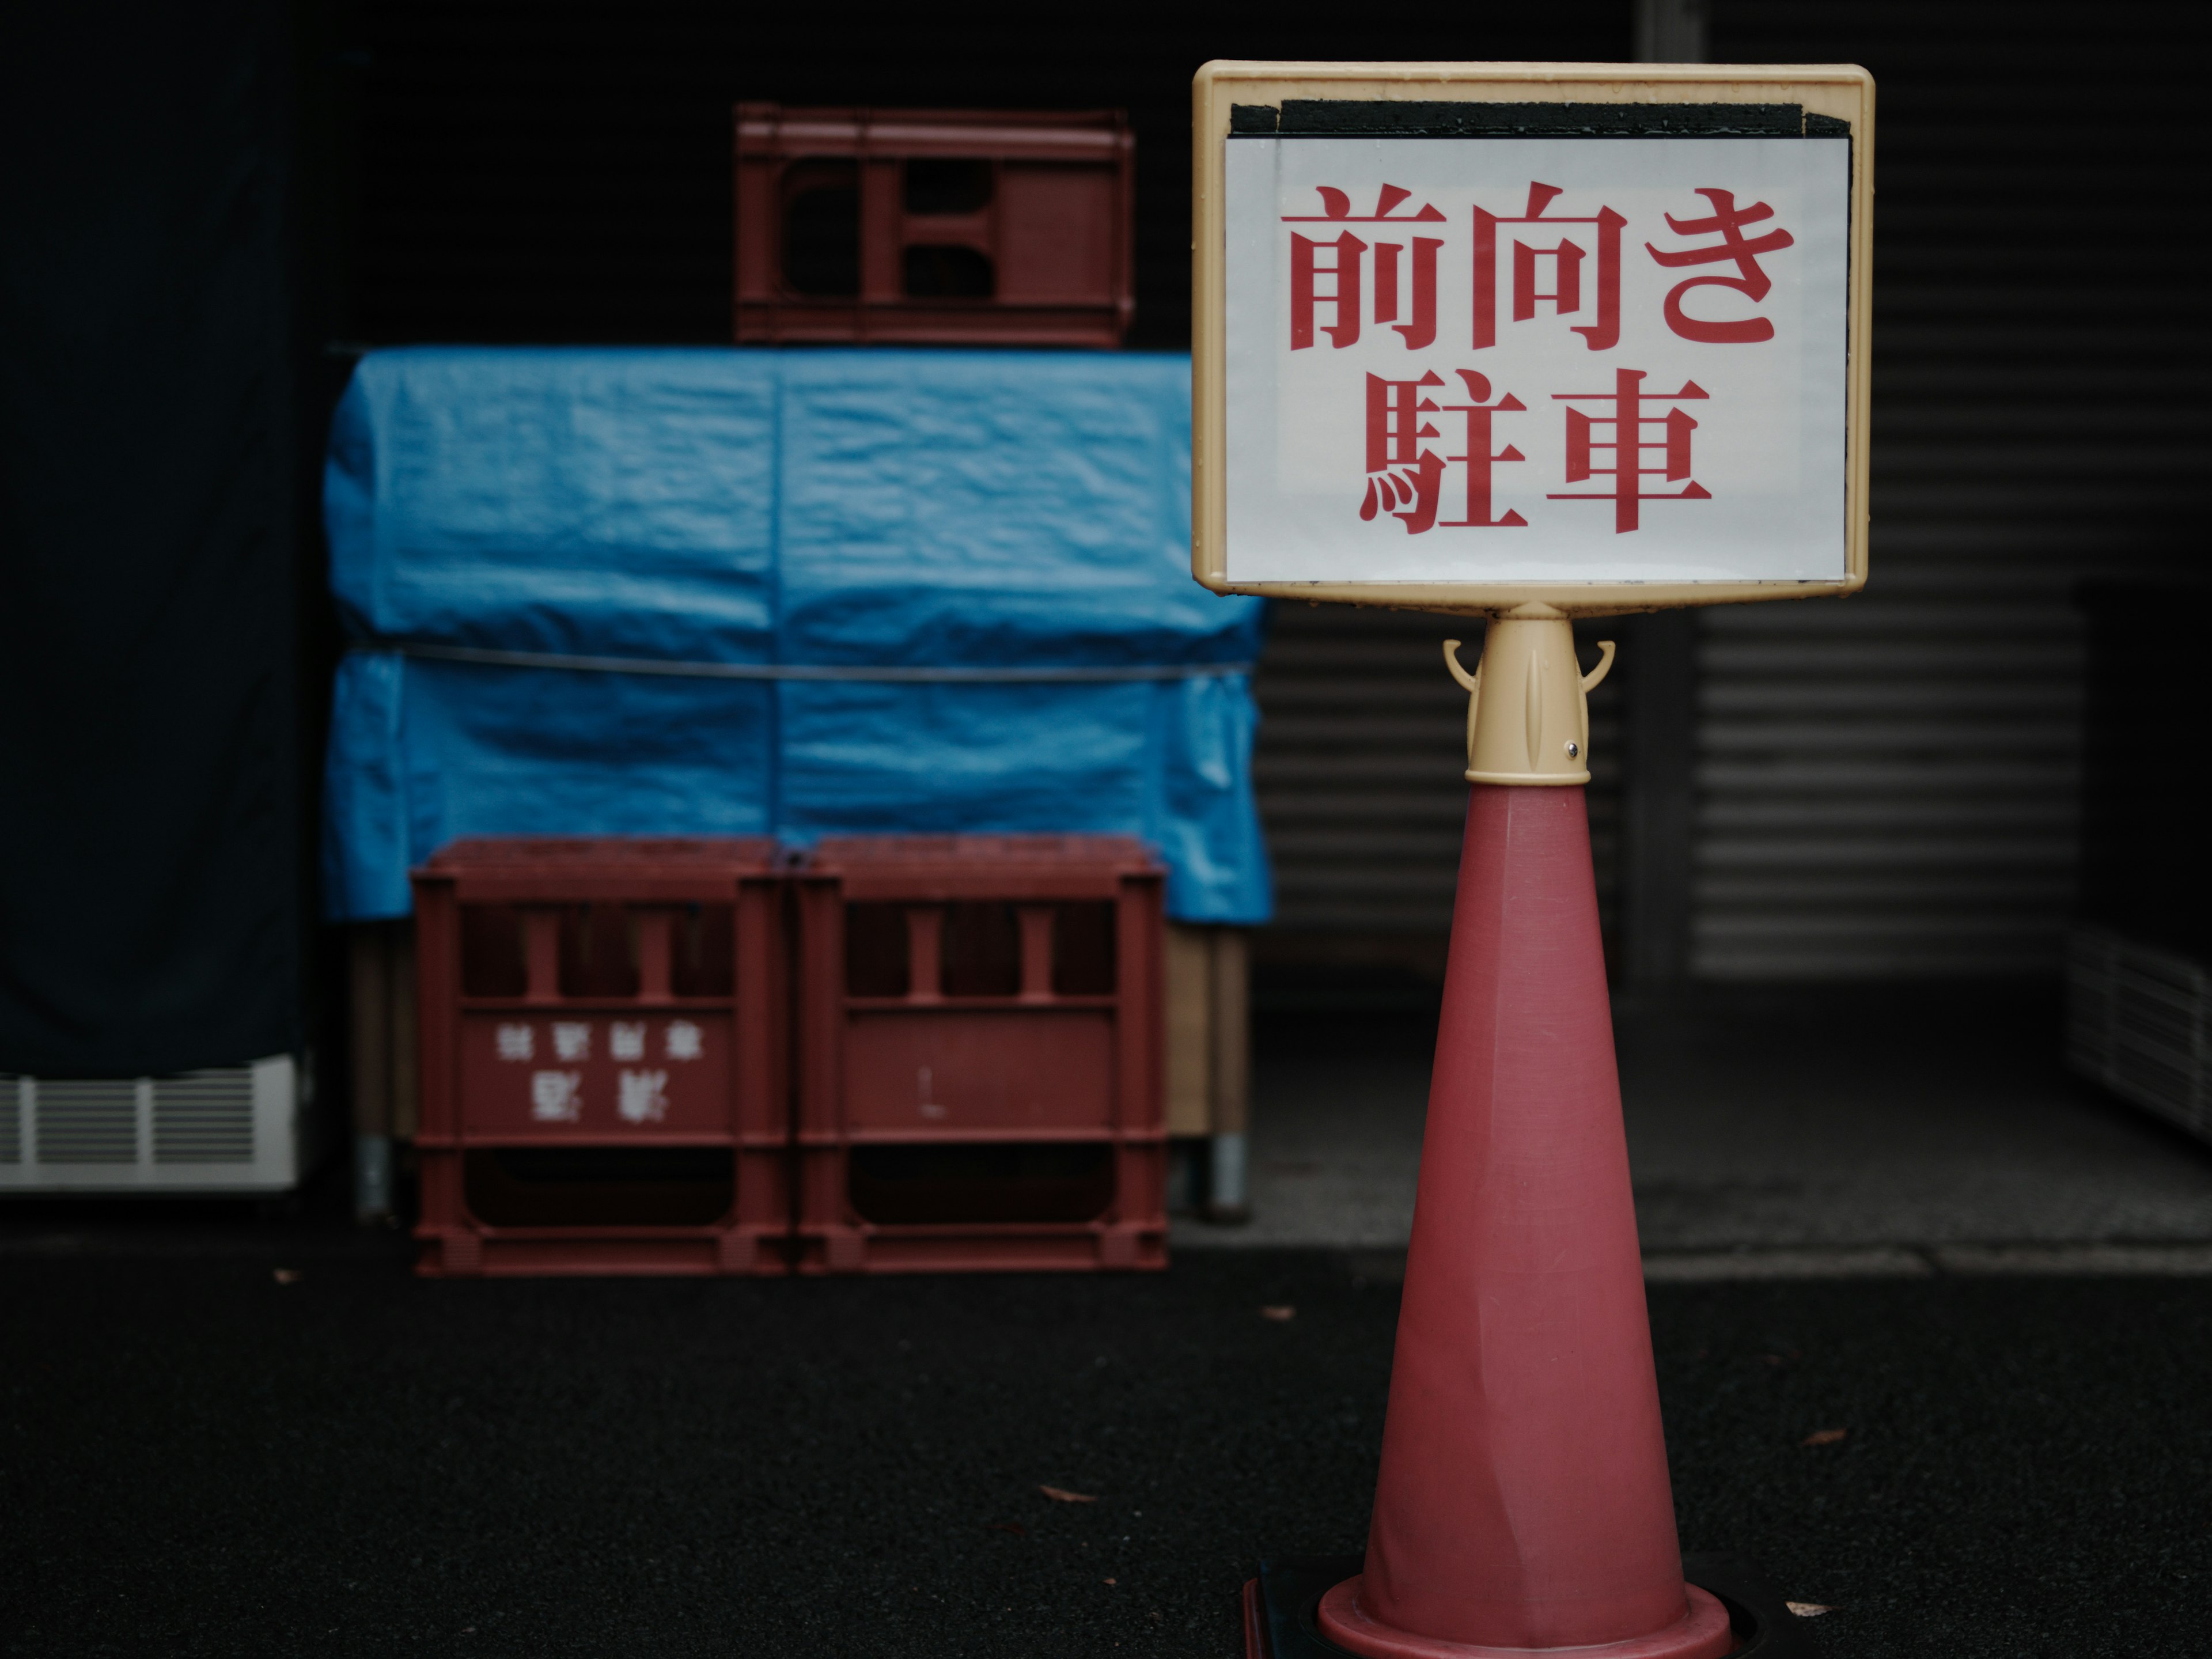
[[301,1040],[292,27],[11,7],[0,1071]]

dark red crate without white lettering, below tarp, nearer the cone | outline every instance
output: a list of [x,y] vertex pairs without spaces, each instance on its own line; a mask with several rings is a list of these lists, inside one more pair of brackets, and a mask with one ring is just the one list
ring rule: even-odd
[[825,841],[799,876],[799,1270],[1164,1267],[1161,867]]

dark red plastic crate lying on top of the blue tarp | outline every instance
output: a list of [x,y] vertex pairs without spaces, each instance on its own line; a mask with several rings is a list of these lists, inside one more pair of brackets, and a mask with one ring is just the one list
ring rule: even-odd
[[1119,345],[1119,111],[737,106],[739,343]]

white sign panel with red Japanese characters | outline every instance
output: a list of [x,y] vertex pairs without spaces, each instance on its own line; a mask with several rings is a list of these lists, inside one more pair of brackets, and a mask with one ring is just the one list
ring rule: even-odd
[[1840,582],[1849,168],[1223,139],[1225,580]]

